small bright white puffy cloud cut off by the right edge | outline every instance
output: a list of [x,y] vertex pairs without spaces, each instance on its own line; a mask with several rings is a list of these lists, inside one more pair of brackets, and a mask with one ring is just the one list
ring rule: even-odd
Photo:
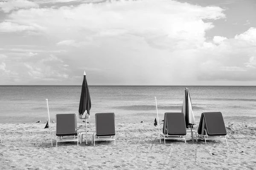
[[237,40],[245,40],[252,45],[256,45],[256,28],[251,27],[246,32],[236,35],[235,39]]

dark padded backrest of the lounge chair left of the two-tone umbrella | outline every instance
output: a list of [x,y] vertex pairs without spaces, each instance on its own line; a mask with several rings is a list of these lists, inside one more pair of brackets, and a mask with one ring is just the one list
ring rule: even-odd
[[167,112],[164,115],[163,130],[168,135],[186,135],[186,122],[183,112]]

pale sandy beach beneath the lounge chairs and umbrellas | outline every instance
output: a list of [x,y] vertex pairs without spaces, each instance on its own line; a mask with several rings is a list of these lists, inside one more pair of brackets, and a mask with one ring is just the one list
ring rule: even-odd
[[[256,118],[226,117],[227,142],[204,141],[187,143],[177,140],[160,144],[158,128],[152,122],[116,123],[116,145],[113,141],[63,142],[55,147],[55,126],[52,124],[53,147],[49,129],[40,124],[0,124],[0,169],[256,169]],[[78,122],[79,132],[85,132]],[[198,127],[195,126],[194,129]],[[161,127],[162,129],[162,127]],[[88,124],[95,132],[95,124]],[[162,140],[163,141],[163,140]]]

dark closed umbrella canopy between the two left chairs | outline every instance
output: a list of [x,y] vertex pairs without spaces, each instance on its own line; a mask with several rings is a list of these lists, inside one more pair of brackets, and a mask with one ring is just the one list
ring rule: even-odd
[[84,119],[87,116],[89,116],[90,108],[91,108],[90,93],[89,93],[89,89],[86,81],[86,74],[84,72],[84,81],[82,84],[81,98],[80,98],[80,104],[79,104],[79,118]]

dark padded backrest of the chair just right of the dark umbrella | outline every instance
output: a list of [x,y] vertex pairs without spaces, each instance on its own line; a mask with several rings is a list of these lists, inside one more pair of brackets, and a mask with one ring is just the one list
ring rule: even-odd
[[96,135],[111,136],[116,134],[115,113],[96,113]]

